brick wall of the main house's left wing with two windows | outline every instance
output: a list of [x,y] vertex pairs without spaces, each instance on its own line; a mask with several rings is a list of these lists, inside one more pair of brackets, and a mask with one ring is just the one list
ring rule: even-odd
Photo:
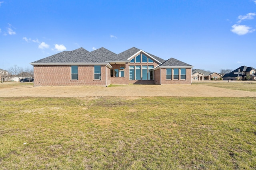
[[[107,72],[108,72],[107,68]],[[109,70],[110,74],[110,70]],[[108,82],[108,81],[107,81]],[[110,80],[109,80],[110,82]],[[106,65],[101,80],[94,80],[94,65],[78,65],[78,80],[71,80],[70,66],[34,66],[34,86],[106,85]]]

